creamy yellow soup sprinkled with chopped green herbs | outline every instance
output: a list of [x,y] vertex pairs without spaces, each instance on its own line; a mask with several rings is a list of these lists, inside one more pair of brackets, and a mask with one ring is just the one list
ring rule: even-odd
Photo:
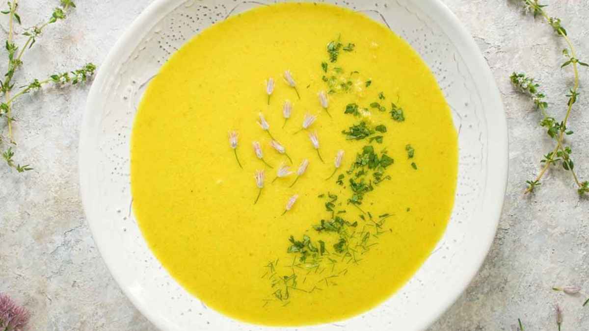
[[[457,163],[448,105],[405,41],[332,5],[262,6],[197,35],[151,81],[133,127],[133,207],[155,256],[207,306],[312,325],[407,282],[444,233]],[[294,173],[276,178],[281,164]]]

